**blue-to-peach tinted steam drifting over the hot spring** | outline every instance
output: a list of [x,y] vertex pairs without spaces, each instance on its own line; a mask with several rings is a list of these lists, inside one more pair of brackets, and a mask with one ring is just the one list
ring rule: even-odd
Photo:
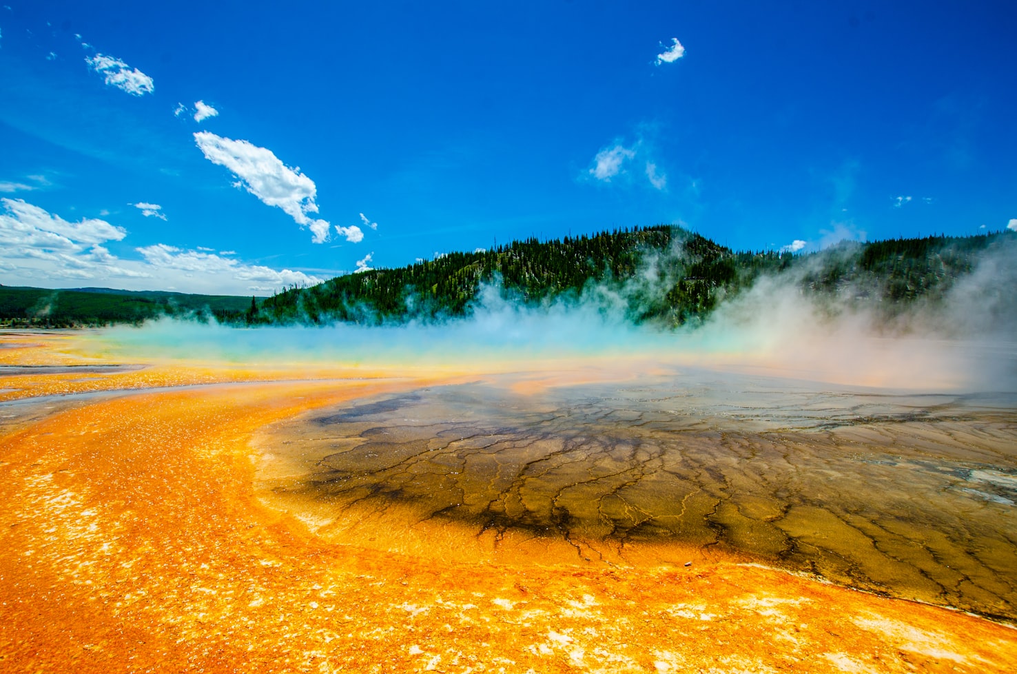
[[[497,288],[482,291],[470,318],[437,324],[239,329],[169,319],[116,327],[103,349],[248,365],[440,367],[495,372],[709,367],[766,376],[902,390],[1012,390],[1017,381],[1017,244],[980,265],[932,305],[915,303],[892,321],[850,289],[819,299],[800,274],[763,277],[700,325],[636,326],[623,307],[659,278],[654,261],[620,290],[591,287],[576,300],[524,306]],[[364,265],[367,264],[365,258]],[[611,364],[610,367],[607,364]]]

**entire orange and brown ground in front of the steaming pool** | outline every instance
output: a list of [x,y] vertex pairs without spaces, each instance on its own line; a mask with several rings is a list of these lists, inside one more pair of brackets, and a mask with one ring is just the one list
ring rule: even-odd
[[0,672],[1017,671],[1006,405],[84,339],[0,335]]

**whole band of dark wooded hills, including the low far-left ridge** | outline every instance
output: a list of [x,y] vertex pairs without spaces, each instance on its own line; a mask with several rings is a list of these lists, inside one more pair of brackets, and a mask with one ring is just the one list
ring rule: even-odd
[[[231,325],[400,323],[469,316],[485,286],[529,306],[606,301],[634,323],[702,321],[723,301],[771,275],[802,294],[869,304],[888,317],[942,300],[994,253],[1017,267],[1017,233],[844,241],[820,252],[736,252],[670,226],[535,238],[453,252],[405,267],[336,277],[262,299],[108,288],[0,286],[0,326],[140,324],[160,316]],[[599,299],[598,299],[599,298]]]

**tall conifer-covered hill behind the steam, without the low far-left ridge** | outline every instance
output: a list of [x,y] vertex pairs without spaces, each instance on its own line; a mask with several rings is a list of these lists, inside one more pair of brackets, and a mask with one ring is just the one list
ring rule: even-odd
[[802,293],[843,296],[893,314],[918,298],[938,301],[990,251],[1012,253],[1017,233],[842,242],[811,254],[735,252],[673,226],[616,230],[563,240],[517,241],[450,253],[395,269],[337,277],[261,303],[253,322],[366,324],[469,315],[484,285],[536,305],[584,294],[620,301],[634,322],[700,320],[761,274]]

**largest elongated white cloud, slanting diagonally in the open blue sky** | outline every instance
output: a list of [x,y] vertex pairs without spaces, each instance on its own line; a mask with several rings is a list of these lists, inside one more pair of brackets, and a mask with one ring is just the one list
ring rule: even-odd
[[225,166],[239,178],[235,184],[243,186],[263,203],[282,208],[301,227],[309,228],[314,243],[328,240],[328,223],[307,216],[318,211],[314,202],[317,188],[313,180],[300,173],[299,167],[289,168],[266,147],[224,138],[208,131],[195,133],[194,141],[206,160]]

